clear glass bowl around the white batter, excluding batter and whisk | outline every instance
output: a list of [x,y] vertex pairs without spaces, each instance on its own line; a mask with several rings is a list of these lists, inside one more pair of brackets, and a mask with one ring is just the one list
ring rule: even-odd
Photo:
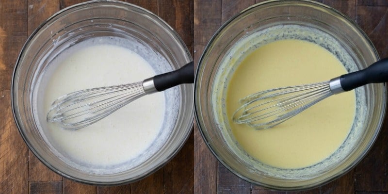
[[56,13],[32,33],[16,63],[11,100],[21,136],[36,157],[51,170],[83,183],[116,185],[150,175],[178,153],[193,128],[194,87],[183,84],[175,89],[177,98],[168,100],[173,101],[170,104],[176,104],[177,107],[168,107],[166,102],[167,108],[178,110],[175,118],[171,119],[175,119],[173,129],[161,148],[145,162],[115,173],[98,174],[75,168],[61,160],[58,152],[45,141],[45,134],[40,130],[41,125],[34,110],[39,104],[36,104],[36,95],[33,94],[37,91],[37,81],[45,75],[50,61],[59,53],[89,38],[102,36],[134,39],[155,53],[160,53],[171,69],[178,69],[192,61],[178,33],[160,17],[125,2],[89,1]]

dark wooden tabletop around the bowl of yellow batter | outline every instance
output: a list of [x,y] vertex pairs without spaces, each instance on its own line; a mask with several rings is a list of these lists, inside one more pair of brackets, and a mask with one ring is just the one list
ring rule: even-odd
[[[194,0],[194,64],[211,35],[242,9],[263,0]],[[388,0],[319,0],[356,20],[380,57],[388,57]],[[252,185],[217,162],[194,127],[195,194],[286,194]],[[300,194],[388,194],[388,118],[372,150],[356,168],[322,187]]]

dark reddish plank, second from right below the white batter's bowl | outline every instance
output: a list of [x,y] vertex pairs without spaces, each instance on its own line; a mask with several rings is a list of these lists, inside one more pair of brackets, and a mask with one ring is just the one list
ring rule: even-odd
[[160,194],[165,193],[163,168],[154,174],[130,184],[131,194]]

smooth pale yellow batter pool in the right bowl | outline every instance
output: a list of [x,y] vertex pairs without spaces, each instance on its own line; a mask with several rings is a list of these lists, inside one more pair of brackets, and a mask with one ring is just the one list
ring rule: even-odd
[[303,40],[279,40],[256,49],[234,72],[226,111],[242,148],[279,168],[302,168],[329,157],[347,137],[356,112],[354,91],[334,95],[271,129],[256,130],[231,120],[239,99],[276,87],[327,81],[347,73],[326,49]]

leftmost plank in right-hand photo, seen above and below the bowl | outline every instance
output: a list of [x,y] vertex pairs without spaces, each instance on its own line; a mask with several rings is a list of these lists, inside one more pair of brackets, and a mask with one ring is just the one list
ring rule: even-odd
[[[221,25],[221,0],[194,0],[194,64]],[[215,194],[217,161],[194,125],[194,194]]]

